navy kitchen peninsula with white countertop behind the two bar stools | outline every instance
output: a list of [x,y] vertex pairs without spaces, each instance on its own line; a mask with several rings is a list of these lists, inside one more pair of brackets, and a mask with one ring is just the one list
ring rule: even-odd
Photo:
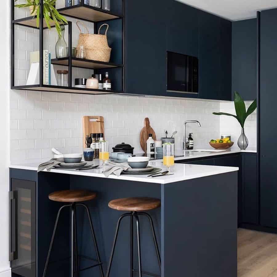
[[[163,170],[161,161],[151,162]],[[34,193],[35,255],[34,276],[42,276],[56,214],[61,203],[48,199],[49,193],[67,189],[89,189],[97,198],[87,202],[98,247],[106,271],[120,211],[108,207],[112,199],[147,196],[161,199],[161,207],[150,211],[159,249],[161,272],[148,222],[141,219],[143,271],[163,277],[171,276],[237,276],[237,167],[215,167],[175,164],[174,175],[151,178],[147,175],[110,175],[102,169],[75,171],[53,169],[37,173],[38,164],[10,166],[11,190],[29,183]],[[54,240],[47,276],[68,276],[70,256],[69,211],[61,215]],[[95,263],[93,242],[82,210],[77,211],[78,253],[80,268]],[[32,225],[33,226],[33,225]],[[134,249],[134,265],[137,255]],[[13,271],[14,273],[20,273]],[[19,274],[20,275],[20,274]],[[79,276],[100,276],[98,268],[82,271]],[[14,277],[17,275],[14,275]],[[110,276],[130,276],[130,221],[123,220],[118,248]],[[134,274],[136,276],[136,274]]]

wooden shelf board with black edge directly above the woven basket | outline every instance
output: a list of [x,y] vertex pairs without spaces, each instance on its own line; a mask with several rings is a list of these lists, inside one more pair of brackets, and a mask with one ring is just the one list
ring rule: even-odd
[[58,12],[63,15],[67,15],[73,18],[79,18],[83,20],[89,20],[93,22],[105,21],[115,18],[121,18],[119,15],[110,14],[105,12],[104,10],[94,8],[92,6],[84,5],[76,5],[72,7],[58,9]]

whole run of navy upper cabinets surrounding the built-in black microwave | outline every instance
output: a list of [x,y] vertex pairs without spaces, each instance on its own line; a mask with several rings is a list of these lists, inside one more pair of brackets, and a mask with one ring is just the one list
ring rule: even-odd
[[[125,92],[231,100],[232,24],[175,0],[125,4]],[[167,92],[167,51],[199,58],[199,94]]]

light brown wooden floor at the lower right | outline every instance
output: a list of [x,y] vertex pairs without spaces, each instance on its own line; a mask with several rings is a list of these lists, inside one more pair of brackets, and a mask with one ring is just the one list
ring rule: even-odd
[[238,230],[238,277],[277,277],[277,235]]

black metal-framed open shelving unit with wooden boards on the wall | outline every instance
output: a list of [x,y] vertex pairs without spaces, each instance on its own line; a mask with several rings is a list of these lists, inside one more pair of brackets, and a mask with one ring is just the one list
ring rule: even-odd
[[[39,18],[39,27],[37,27],[37,18],[33,16],[29,16],[26,18],[14,19],[14,0],[11,0],[11,89],[18,90],[38,90],[38,91],[53,91],[53,92],[68,92],[68,93],[82,93],[82,94],[117,94],[124,92],[124,1],[122,1],[122,14],[111,13],[106,10],[102,10],[99,8],[95,8],[89,5],[84,4],[84,0],[80,0],[79,5],[74,5],[71,7],[65,7],[62,9],[58,9],[60,14],[71,18],[77,18],[84,21],[89,21],[94,23],[94,33],[96,33],[96,25],[97,23],[113,21],[113,20],[122,20],[122,46],[120,50],[120,56],[122,56],[122,64],[114,63],[114,62],[100,62],[93,61],[88,59],[80,59],[72,57],[72,22],[68,21],[68,48],[69,53],[68,57],[61,59],[52,59],[51,64],[53,65],[62,65],[68,66],[68,86],[54,86],[54,85],[44,85],[43,84],[43,30],[47,28],[45,20],[43,17]],[[42,13],[43,0],[40,0],[40,14]],[[35,28],[39,30],[39,51],[40,51],[40,78],[39,84],[35,85],[14,85],[14,57],[15,57],[15,49],[14,49],[14,26],[22,25],[30,28]],[[50,22],[51,26],[54,26],[54,22]],[[42,26],[42,27],[41,27]],[[93,69],[93,70],[104,70],[104,69],[112,69],[119,68],[121,71],[120,90],[91,90],[85,88],[75,88],[72,86],[72,67],[85,68],[85,69]],[[118,76],[118,74],[117,74]]]

